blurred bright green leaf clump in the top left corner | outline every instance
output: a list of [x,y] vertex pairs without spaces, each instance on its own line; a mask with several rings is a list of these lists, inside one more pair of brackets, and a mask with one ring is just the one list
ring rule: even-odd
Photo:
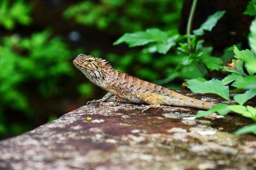
[[25,4],[23,0],[0,1],[0,25],[12,30],[16,23],[29,25],[31,23],[31,7]]

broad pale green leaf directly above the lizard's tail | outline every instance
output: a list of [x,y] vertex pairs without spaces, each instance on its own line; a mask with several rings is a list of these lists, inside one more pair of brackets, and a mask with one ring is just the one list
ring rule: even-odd
[[212,79],[201,82],[196,79],[188,80],[188,88],[194,93],[217,94],[227,101],[230,101],[228,86],[225,86],[220,80]]

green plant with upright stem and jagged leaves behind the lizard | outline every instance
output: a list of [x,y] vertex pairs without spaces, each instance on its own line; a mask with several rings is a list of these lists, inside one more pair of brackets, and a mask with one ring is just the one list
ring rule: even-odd
[[145,46],[144,52],[162,54],[166,54],[173,49],[175,55],[179,55],[179,62],[175,69],[169,73],[168,78],[158,81],[158,83],[168,83],[174,78],[180,77],[180,73],[188,68],[198,73],[195,74],[195,77],[202,77],[210,71],[220,70],[223,66],[223,60],[211,55],[212,47],[203,45],[204,40],[201,36],[204,35],[204,31],[211,31],[224,14],[225,11],[217,11],[209,16],[199,29],[193,31],[194,34],[190,34],[189,28],[191,26],[189,24],[187,35],[180,35],[177,29],[170,31],[147,29],[146,31],[125,33],[115,41],[114,45],[127,43],[130,47]]

